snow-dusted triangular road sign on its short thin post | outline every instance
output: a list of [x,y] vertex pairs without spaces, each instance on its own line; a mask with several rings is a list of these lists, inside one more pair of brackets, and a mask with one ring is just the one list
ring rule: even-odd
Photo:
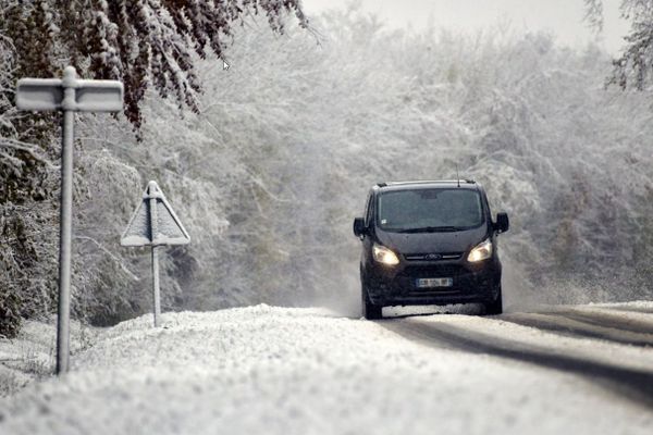
[[122,246],[152,247],[152,297],[156,327],[159,326],[161,318],[158,247],[188,243],[190,243],[190,236],[170,207],[165,196],[156,182],[149,182],[143,194],[143,201],[132,214],[120,244]]

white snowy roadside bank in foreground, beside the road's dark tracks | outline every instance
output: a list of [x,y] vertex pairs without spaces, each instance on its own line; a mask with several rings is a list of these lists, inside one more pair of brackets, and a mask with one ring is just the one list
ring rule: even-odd
[[163,322],[102,331],[69,375],[0,401],[0,433],[613,434],[653,424],[580,377],[409,341],[386,327],[402,320],[257,306]]

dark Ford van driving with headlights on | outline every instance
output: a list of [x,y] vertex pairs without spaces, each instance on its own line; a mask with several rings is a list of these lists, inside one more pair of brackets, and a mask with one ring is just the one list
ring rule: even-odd
[[472,181],[381,183],[370,190],[365,217],[354,220],[362,241],[362,315],[387,306],[483,303],[503,311],[496,235],[508,215],[492,220],[483,188]]

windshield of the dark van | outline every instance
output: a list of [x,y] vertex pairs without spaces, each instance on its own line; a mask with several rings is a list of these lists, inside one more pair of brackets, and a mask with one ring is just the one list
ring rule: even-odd
[[379,195],[377,225],[387,232],[460,231],[483,223],[481,196],[460,188],[393,190]]

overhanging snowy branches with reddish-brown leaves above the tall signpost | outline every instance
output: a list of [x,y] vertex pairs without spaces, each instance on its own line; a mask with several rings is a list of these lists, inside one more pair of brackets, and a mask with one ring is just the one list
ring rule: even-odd
[[10,0],[2,11],[19,76],[52,76],[72,63],[91,78],[123,80],[136,126],[149,86],[197,110],[197,59],[224,57],[245,17],[263,14],[278,33],[287,13],[307,25],[298,0]]

